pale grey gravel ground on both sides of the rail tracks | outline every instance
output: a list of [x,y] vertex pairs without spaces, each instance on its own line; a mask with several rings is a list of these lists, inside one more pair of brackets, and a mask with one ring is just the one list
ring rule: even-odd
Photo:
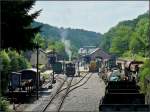
[[[81,76],[84,75],[85,73],[81,74]],[[59,87],[60,83],[62,83],[64,78],[65,75],[59,75],[57,77],[57,83],[54,84],[53,89],[46,89],[45,91],[42,91],[39,100],[35,100],[30,104],[22,104],[19,110],[36,112],[41,110],[41,108],[45,104],[47,104],[49,98],[56,92],[57,88]],[[78,82],[80,78],[81,77],[74,77],[72,84]],[[65,85],[67,86],[67,84]],[[97,74],[93,74],[85,85],[73,90],[68,95],[68,97],[65,99],[61,111],[98,111],[99,101],[104,93],[104,82],[99,78]],[[52,105],[52,107],[54,108],[55,103]],[[48,111],[54,111],[55,109],[53,108],[49,108]]]

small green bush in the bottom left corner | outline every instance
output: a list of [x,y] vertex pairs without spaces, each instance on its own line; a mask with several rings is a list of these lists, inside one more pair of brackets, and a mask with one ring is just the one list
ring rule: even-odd
[[8,106],[9,102],[5,98],[0,97],[0,110],[3,112],[11,112]]

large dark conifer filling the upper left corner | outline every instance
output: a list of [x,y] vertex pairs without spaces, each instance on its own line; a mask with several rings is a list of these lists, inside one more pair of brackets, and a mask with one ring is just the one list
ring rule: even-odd
[[33,28],[31,23],[41,12],[29,14],[35,0],[1,1],[2,48],[26,50],[34,48],[34,35],[40,26]]

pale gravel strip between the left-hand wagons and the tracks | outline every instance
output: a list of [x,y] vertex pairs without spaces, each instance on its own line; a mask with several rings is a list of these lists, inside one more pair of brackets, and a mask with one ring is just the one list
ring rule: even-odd
[[[21,105],[17,105],[16,104],[16,111],[39,111],[41,110],[41,108],[48,102],[48,98],[52,96],[52,94],[54,94],[57,90],[57,88],[59,87],[60,83],[63,82],[63,79],[65,79],[65,75],[57,75],[56,76],[56,84],[53,85],[52,89],[48,89],[46,86],[45,88],[43,88],[43,90],[41,90],[39,92],[39,99],[36,100],[34,97],[33,99],[31,99],[30,102],[28,103],[24,103]],[[34,100],[35,99],[35,100]],[[10,109],[13,108],[13,105],[10,105],[9,107]]]

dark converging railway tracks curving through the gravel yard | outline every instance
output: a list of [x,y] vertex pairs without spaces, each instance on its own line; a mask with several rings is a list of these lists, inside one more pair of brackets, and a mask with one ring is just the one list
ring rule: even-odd
[[[56,98],[56,96],[58,96],[59,93],[62,94],[62,91],[63,91],[61,100],[59,101],[59,104],[58,104],[58,106],[56,107],[56,111],[59,112],[59,111],[61,110],[61,107],[62,107],[62,105],[63,105],[63,103],[64,103],[64,100],[65,100],[66,96],[67,96],[71,91],[73,91],[74,89],[76,89],[76,88],[78,88],[78,87],[84,85],[84,84],[90,79],[90,77],[92,76],[91,74],[89,74],[88,78],[87,78],[82,84],[80,84],[80,82],[81,82],[83,79],[85,79],[85,77],[86,77],[87,75],[88,75],[88,73],[86,73],[77,83],[71,85],[72,80],[73,80],[73,77],[72,77],[72,78],[68,81],[67,87],[65,87],[65,88],[63,88],[63,89],[59,88],[59,89],[58,89],[59,91],[56,92],[56,94],[49,100],[48,104],[45,105],[45,107],[44,107],[40,112],[45,112],[45,111],[47,111],[48,107],[52,104],[52,102],[53,102],[53,100]],[[63,85],[62,85],[62,86],[63,86]],[[61,86],[61,87],[62,87],[62,86]]]

